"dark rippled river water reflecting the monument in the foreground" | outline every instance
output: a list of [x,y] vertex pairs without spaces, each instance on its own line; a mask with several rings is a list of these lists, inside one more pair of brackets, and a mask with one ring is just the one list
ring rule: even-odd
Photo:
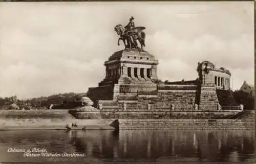
[[[83,154],[67,157],[30,154]],[[9,152],[8,152],[9,149]],[[12,149],[12,152],[10,152]],[[164,162],[254,159],[253,130],[20,130],[1,131],[0,162]]]

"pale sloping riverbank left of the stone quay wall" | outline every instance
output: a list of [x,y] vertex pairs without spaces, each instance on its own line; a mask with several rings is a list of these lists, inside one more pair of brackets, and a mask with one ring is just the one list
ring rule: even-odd
[[68,110],[2,110],[0,130],[58,130],[67,124],[77,124],[76,129],[114,129],[114,119],[75,119]]

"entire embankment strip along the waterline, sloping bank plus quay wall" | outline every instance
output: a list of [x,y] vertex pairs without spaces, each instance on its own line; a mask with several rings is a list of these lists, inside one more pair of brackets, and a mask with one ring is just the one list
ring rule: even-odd
[[[186,114],[189,111],[185,111]],[[182,114],[185,114],[183,111]],[[198,111],[201,112],[201,111]],[[177,112],[178,114],[179,112]],[[194,113],[194,112],[193,112]],[[204,113],[207,113],[204,111]],[[227,112],[228,113],[228,112]],[[198,114],[198,113],[195,113]],[[210,112],[208,113],[210,114]],[[254,115],[254,112],[252,113]],[[253,119],[251,119],[253,118]],[[77,129],[253,129],[254,116],[249,119],[76,119],[69,110],[1,110],[0,130],[65,129],[76,123]],[[112,125],[112,126],[111,126]]]

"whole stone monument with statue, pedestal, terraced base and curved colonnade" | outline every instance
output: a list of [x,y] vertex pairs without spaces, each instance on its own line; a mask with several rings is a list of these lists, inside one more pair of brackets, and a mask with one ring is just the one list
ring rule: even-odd
[[145,28],[133,20],[115,26],[124,49],[104,62],[104,79],[87,92],[102,119],[220,119],[240,112],[229,90],[230,72],[209,61],[198,63],[196,80],[159,83],[158,60],[143,50]]

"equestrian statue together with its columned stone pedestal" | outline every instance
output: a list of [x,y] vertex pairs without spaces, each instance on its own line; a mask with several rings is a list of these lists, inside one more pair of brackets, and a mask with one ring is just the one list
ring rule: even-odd
[[[144,27],[134,27],[133,17],[125,29],[117,25],[114,29],[119,40],[124,42],[124,50],[115,52],[105,65],[105,78],[98,87],[89,88],[88,97],[98,100],[118,100],[124,93],[137,93],[138,90],[156,90],[158,60],[143,50],[145,46]],[[137,45],[141,43],[141,48]]]

